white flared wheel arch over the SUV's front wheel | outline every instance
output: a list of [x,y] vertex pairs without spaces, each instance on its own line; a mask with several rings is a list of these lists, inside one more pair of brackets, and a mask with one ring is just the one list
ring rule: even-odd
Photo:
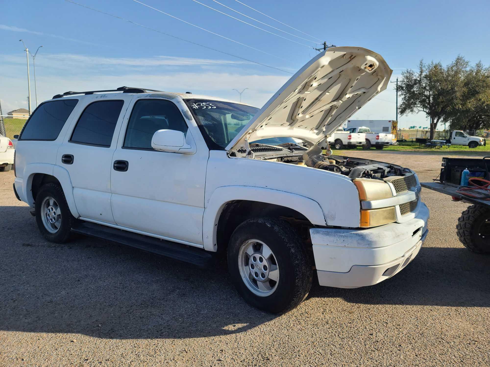
[[288,217],[310,227],[327,224],[320,205],[310,198],[264,187],[221,186],[204,210],[204,249],[221,250],[240,223],[257,216]]

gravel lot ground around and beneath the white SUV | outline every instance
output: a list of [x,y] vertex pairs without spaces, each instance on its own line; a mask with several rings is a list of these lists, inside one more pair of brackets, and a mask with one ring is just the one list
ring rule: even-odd
[[[435,178],[441,154],[352,151]],[[477,156],[475,156],[477,157]],[[463,248],[466,204],[422,190],[430,233],[375,286],[314,285],[293,311],[248,306],[226,269],[89,237],[57,245],[0,173],[0,365],[489,366],[490,257]]]

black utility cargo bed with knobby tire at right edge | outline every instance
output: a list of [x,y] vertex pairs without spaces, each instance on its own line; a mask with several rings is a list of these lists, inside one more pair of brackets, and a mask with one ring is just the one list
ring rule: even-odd
[[[461,185],[463,170],[470,172],[469,184]],[[490,253],[490,157],[442,158],[441,174],[422,187],[451,196],[455,202],[471,204],[456,225],[460,242],[470,251]]]

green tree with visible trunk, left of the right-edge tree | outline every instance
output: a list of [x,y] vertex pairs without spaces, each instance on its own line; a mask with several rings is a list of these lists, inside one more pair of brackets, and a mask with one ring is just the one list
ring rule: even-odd
[[463,92],[469,63],[458,56],[445,68],[441,63],[424,64],[420,60],[418,72],[407,69],[402,72],[398,92],[402,97],[400,115],[423,112],[430,118],[430,139],[434,138],[437,124],[449,108],[459,103]]

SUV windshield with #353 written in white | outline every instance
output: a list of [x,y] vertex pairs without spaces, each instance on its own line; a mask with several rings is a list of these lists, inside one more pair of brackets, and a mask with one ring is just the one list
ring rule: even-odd
[[204,138],[218,144],[221,148],[225,148],[259,111],[258,108],[240,103],[208,99],[185,101],[194,113]]

